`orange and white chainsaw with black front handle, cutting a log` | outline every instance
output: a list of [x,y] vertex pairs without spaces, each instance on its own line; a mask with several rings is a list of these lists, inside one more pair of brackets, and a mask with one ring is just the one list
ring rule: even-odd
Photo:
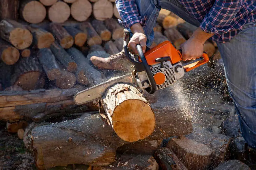
[[76,93],[73,97],[76,104],[80,105],[101,98],[106,89],[116,83],[133,83],[140,92],[146,90],[147,93],[153,94],[156,90],[174,84],[186,72],[209,61],[208,55],[204,52],[201,58],[183,66],[182,50],[176,49],[170,41],[164,41],[147,49],[144,54],[141,45],[137,44],[138,55],[134,55],[127,46],[129,31],[125,29],[124,33],[124,53],[127,59],[133,63],[131,73]]

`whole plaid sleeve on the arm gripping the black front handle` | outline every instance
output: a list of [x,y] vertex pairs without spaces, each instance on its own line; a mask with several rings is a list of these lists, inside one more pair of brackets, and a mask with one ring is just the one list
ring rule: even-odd
[[124,28],[129,29],[135,23],[140,23],[142,27],[145,27],[147,17],[139,16],[134,0],[116,0],[115,3],[122,19],[118,21]]

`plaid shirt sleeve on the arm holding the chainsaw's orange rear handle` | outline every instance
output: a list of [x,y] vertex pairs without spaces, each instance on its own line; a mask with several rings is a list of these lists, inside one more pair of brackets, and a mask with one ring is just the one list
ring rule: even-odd
[[230,26],[232,19],[237,15],[243,0],[216,0],[207,12],[200,28],[213,34],[225,34],[233,29]]

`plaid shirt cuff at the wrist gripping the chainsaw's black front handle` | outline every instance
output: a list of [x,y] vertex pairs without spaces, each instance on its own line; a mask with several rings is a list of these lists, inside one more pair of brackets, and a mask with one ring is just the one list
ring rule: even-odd
[[121,21],[118,19],[118,22],[126,29],[131,28],[133,24],[139,23],[141,24],[142,28],[146,26],[147,16],[134,16],[125,21]]

